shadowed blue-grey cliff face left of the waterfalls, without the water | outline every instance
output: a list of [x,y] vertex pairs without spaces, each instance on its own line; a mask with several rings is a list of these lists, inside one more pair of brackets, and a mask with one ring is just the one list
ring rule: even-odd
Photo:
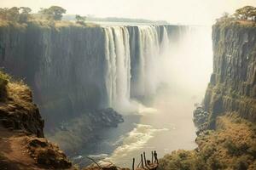
[[[48,125],[104,101],[101,28],[30,24],[0,28],[0,63],[32,87]],[[90,90],[88,90],[90,89]],[[63,120],[63,119],[62,119]]]

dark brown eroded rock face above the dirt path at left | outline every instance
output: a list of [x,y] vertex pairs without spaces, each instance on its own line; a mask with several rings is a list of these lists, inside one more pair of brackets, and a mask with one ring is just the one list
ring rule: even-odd
[[44,137],[44,120],[37,105],[32,104],[32,92],[23,84],[8,83],[8,97],[0,105],[0,123],[3,127],[24,130]]

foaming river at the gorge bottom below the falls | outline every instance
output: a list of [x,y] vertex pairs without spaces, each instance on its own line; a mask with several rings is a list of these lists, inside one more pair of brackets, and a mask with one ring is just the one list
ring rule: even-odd
[[195,149],[192,118],[194,104],[200,100],[199,96],[164,88],[148,102],[150,107],[143,108],[140,114],[124,116],[124,123],[109,129],[101,135],[99,142],[84,148],[76,162],[88,165],[90,161],[86,156],[90,156],[112,161],[119,167],[131,167],[132,158],[139,163],[143,151],[150,159],[151,150],[156,150],[162,157],[172,150]]

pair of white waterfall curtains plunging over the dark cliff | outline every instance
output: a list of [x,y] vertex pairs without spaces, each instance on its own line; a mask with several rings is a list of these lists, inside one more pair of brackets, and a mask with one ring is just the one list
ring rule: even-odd
[[[117,110],[131,106],[131,47],[127,26],[105,27],[105,55],[106,55],[106,88],[108,106]],[[133,89],[137,96],[147,96],[155,93],[158,83],[157,59],[162,48],[168,45],[166,28],[160,38],[159,26],[137,26],[137,83]],[[160,41],[160,39],[162,39]]]

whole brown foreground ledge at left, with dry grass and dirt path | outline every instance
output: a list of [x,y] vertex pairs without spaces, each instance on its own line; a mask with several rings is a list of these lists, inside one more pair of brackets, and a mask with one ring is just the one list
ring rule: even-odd
[[44,120],[32,92],[0,72],[0,169],[73,169],[57,145],[44,139]]

